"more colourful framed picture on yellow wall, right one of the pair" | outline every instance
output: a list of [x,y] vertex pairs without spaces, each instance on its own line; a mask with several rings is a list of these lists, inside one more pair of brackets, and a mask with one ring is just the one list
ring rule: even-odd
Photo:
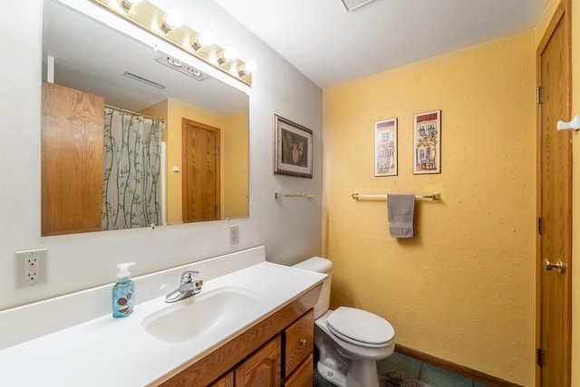
[[441,171],[441,111],[413,116],[413,174]]

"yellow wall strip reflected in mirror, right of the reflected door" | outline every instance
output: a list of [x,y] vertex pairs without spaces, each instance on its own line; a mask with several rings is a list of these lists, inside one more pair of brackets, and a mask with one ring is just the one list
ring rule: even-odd
[[[225,119],[227,136],[222,139],[222,192],[249,192],[249,130],[246,113]],[[222,218],[246,218],[248,216],[247,195],[222,195]]]

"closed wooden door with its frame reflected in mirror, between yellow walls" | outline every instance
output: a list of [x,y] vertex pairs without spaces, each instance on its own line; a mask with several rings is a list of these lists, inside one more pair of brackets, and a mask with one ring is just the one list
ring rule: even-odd
[[183,222],[219,218],[219,130],[182,120]]

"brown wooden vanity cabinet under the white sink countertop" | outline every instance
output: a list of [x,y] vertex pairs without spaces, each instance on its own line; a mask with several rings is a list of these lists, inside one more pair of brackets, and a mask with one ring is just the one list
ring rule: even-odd
[[322,285],[182,368],[160,386],[306,387],[313,383],[314,313]]

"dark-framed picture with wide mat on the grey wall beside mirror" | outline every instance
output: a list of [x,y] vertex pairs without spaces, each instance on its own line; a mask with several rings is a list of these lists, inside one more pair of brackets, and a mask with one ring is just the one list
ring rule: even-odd
[[312,131],[275,115],[274,173],[312,179]]

